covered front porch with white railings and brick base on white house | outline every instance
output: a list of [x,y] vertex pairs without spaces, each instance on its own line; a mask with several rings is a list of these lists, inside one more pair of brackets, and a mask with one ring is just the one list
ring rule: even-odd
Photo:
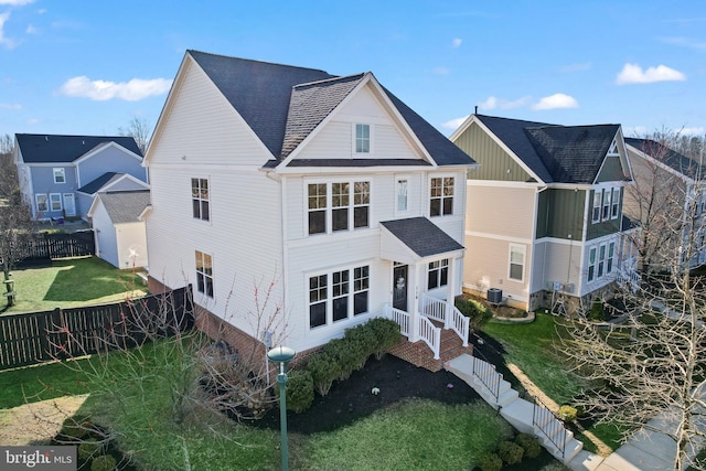
[[469,327],[453,304],[464,248],[426,217],[381,223],[381,258],[391,264],[385,317],[407,338],[393,354],[432,371],[468,353]]

